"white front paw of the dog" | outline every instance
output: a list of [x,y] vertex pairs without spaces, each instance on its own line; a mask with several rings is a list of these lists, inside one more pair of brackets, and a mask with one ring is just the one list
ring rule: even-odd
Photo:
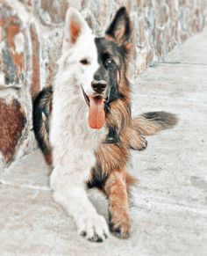
[[103,216],[89,216],[77,223],[78,233],[92,242],[103,242],[109,236],[108,225]]

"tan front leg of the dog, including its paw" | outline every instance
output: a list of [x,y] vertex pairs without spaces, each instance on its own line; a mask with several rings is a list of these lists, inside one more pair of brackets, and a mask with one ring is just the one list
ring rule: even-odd
[[119,238],[128,238],[131,232],[124,171],[123,169],[111,172],[104,186],[104,192],[109,199],[110,228]]

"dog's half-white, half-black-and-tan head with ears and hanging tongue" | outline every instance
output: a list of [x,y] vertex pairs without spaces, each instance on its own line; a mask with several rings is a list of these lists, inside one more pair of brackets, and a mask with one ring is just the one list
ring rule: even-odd
[[82,15],[68,9],[62,48],[62,54],[68,57],[63,68],[73,73],[82,91],[91,128],[102,128],[111,103],[125,98],[125,91],[129,91],[130,35],[130,19],[124,7],[118,10],[104,37],[93,35]]

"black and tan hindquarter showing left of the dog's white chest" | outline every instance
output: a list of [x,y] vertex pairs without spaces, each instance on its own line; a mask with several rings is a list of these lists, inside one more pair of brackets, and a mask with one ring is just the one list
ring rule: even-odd
[[53,89],[46,87],[39,92],[33,103],[33,130],[46,163],[52,165],[52,152],[49,143],[49,119],[52,109]]

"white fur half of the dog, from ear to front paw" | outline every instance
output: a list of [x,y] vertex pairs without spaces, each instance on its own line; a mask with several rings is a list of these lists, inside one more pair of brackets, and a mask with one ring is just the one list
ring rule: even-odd
[[[78,23],[81,33],[75,43],[70,41],[70,22]],[[86,58],[89,65],[82,65]],[[74,217],[79,234],[86,238],[104,239],[108,225],[89,201],[85,181],[96,163],[94,152],[106,135],[105,128],[89,128],[89,107],[82,88],[91,94],[91,81],[98,69],[94,35],[82,16],[70,8],[67,13],[65,37],[59,70],[54,84],[50,142],[53,147],[54,170],[50,184],[54,200]],[[82,88],[81,88],[82,86]]]

